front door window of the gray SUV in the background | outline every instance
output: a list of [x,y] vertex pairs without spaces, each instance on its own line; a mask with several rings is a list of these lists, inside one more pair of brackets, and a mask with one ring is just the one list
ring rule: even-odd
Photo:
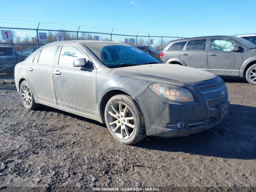
[[235,44],[226,39],[211,39],[211,51],[231,51]]

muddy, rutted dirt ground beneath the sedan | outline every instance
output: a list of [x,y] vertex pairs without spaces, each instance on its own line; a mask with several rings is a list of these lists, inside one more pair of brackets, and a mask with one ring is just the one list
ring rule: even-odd
[[186,137],[114,140],[104,124],[42,106],[0,85],[0,190],[8,187],[256,187],[256,86],[225,79],[230,113]]

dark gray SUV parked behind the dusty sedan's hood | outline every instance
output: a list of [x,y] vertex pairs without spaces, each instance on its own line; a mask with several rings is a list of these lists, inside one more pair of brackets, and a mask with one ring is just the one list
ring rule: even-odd
[[166,63],[200,68],[222,76],[246,77],[256,85],[256,45],[236,36],[205,36],[170,41]]

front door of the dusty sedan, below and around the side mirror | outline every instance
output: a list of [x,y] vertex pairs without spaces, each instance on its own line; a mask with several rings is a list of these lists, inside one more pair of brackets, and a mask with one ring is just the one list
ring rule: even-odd
[[53,86],[58,106],[95,115],[96,113],[96,70],[73,67],[77,58],[89,59],[80,48],[63,45],[59,62],[53,68]]

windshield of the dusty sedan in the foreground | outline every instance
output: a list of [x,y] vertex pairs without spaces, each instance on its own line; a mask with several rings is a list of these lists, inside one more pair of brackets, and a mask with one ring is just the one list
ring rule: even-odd
[[108,67],[162,63],[135,47],[110,43],[85,44]]

